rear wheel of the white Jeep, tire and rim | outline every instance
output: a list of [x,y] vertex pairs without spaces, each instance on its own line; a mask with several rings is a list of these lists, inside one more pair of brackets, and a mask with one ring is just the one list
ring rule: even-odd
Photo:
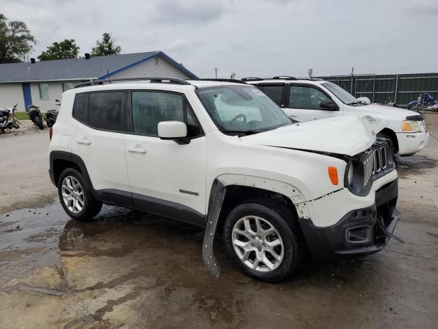
[[62,171],[57,183],[62,208],[79,221],[92,221],[99,214],[102,202],[94,199],[82,174],[73,168]]

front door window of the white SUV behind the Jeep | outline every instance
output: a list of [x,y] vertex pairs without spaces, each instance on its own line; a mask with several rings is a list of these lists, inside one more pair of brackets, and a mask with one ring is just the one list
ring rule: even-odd
[[322,91],[309,86],[290,86],[289,108],[320,110],[320,102],[329,100]]

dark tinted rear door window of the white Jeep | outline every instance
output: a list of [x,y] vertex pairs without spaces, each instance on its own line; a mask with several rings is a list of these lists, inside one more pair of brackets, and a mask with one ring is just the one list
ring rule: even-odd
[[103,130],[122,130],[123,91],[91,93],[88,105],[88,123]]

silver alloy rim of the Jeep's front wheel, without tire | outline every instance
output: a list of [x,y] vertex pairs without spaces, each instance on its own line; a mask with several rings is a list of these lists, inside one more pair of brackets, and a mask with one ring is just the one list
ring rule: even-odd
[[231,241],[242,263],[255,271],[273,271],[283,260],[284,245],[279,231],[261,217],[239,219],[233,227]]

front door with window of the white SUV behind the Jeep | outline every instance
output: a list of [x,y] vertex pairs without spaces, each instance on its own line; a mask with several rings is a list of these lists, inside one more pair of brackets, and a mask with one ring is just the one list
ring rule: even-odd
[[296,121],[309,121],[342,114],[341,111],[320,108],[321,101],[330,100],[318,86],[311,84],[289,84],[286,90],[285,112]]

